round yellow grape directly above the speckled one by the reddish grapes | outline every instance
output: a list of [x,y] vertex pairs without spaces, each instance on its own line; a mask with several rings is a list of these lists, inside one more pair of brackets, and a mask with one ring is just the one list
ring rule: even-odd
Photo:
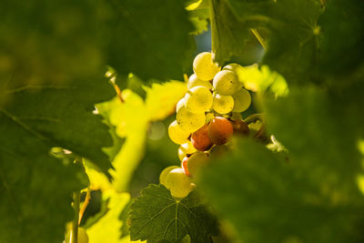
[[212,94],[204,86],[195,86],[187,91],[185,106],[192,113],[204,113],[212,106]]

